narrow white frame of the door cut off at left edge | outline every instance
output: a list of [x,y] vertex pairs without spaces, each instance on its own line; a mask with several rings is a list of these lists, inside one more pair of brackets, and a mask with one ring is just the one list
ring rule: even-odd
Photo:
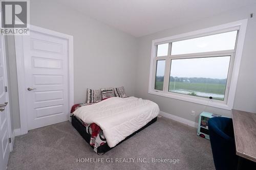
[[[5,64],[5,69],[4,69],[4,74],[5,74],[5,85],[7,86],[7,88],[9,87],[8,85],[8,74],[7,74],[7,59],[6,59],[6,37],[2,34],[0,41],[3,44],[3,51],[2,51],[2,55],[3,55],[3,64]],[[11,138],[11,142],[9,143],[9,149],[10,152],[12,152],[13,150],[13,142],[14,142],[14,129],[12,132],[12,128],[11,128],[11,115],[10,115],[10,102],[9,102],[9,93],[6,92],[6,100],[8,102],[7,106],[5,107],[6,109],[6,114],[7,114],[7,122],[8,122],[8,133],[9,133],[9,138]]]

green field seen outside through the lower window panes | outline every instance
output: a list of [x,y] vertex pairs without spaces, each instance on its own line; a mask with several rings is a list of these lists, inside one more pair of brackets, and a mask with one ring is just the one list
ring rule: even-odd
[[[191,92],[190,95],[196,95],[195,92],[203,93],[214,93],[214,94],[224,94],[225,93],[225,84],[210,84],[210,83],[183,83],[183,82],[169,82],[169,91],[171,90],[183,90]],[[156,82],[155,89],[162,90],[163,82]],[[215,98],[223,100],[223,98]]]

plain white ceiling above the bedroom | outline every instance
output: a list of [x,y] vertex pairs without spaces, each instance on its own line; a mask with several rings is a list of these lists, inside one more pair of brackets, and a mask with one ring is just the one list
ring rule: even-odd
[[135,37],[256,3],[256,0],[57,1]]

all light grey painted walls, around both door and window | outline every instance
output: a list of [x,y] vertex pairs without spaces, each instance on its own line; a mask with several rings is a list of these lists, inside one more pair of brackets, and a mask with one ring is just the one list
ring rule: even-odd
[[[251,12],[256,13],[256,6],[135,38],[54,1],[30,1],[32,25],[74,36],[75,103],[85,101],[87,88],[124,86],[129,95],[150,99],[159,105],[161,111],[193,122],[198,122],[198,115],[203,110],[226,116],[230,115],[230,111],[148,94],[152,40],[248,18]],[[256,112],[255,30],[256,19],[249,18],[234,102],[234,109],[250,112]],[[12,39],[9,43],[14,47]],[[9,60],[12,67],[15,67],[14,59]],[[14,129],[18,129],[20,124],[18,109],[16,109],[18,103],[15,102],[18,99],[15,71],[15,68],[10,68],[11,96],[14,100],[12,101],[13,126]],[[196,116],[190,115],[191,110],[196,111]]]

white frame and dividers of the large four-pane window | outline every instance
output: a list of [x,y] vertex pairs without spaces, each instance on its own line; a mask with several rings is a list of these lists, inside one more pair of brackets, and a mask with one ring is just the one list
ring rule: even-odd
[[[167,98],[178,99],[182,101],[208,105],[212,107],[222,108],[226,110],[231,110],[234,102],[234,95],[236,93],[236,86],[240,68],[240,62],[242,58],[242,50],[245,39],[247,27],[247,19],[239,20],[236,22],[226,23],[224,25],[211,27],[207,29],[197,30],[189,33],[179,34],[175,36],[170,36],[166,38],[156,39],[152,41],[152,53],[151,53],[151,66],[150,66],[150,80],[148,85],[148,93],[164,96]],[[180,55],[170,55],[170,50],[172,48],[172,42],[180,41],[185,39],[197,38],[207,35],[219,34],[229,31],[238,30],[237,42],[234,50],[217,51],[217,52],[203,52],[203,53],[193,53],[193,54],[180,54]],[[157,45],[169,43],[168,55],[157,57]],[[224,94],[224,101],[220,100],[209,100],[200,96],[193,96],[187,94],[180,94],[168,91],[169,87],[169,77],[170,77],[170,64],[172,59],[186,59],[186,58],[199,58],[199,57],[218,57],[218,56],[230,56],[228,77],[226,83],[226,89]],[[156,79],[156,64],[157,60],[165,60],[165,71],[164,71],[164,82],[163,90],[155,90],[155,79]]]

